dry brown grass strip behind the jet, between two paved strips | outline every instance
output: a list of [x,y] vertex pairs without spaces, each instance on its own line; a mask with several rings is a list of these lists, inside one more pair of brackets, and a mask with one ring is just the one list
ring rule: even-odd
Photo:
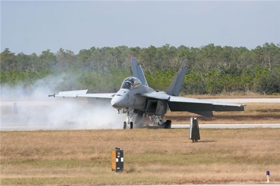
[[214,117],[205,118],[190,112],[168,112],[166,118],[173,123],[188,123],[192,116],[200,123],[280,123],[280,103],[248,103],[242,112],[213,112]]

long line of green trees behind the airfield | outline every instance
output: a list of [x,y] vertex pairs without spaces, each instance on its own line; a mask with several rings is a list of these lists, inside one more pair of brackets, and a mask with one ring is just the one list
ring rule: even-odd
[[36,80],[63,74],[59,90],[89,89],[114,92],[131,76],[130,56],[142,65],[150,86],[166,90],[182,60],[187,59],[183,94],[229,94],[232,92],[280,93],[280,43],[265,43],[255,49],[215,46],[103,47],[50,50],[41,54],[1,54],[1,83],[28,88]]

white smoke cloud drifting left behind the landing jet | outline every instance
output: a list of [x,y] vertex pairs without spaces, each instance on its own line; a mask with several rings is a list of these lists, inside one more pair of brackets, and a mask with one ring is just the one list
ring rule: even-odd
[[61,75],[40,79],[28,88],[1,85],[1,130],[123,128],[126,115],[117,114],[110,101],[48,97],[60,91],[64,81]]

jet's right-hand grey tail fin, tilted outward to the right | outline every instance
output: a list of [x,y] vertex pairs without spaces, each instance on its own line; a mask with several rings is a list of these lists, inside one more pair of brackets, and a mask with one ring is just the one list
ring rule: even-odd
[[177,72],[176,77],[174,78],[173,82],[171,83],[170,87],[167,89],[166,93],[172,96],[179,96],[179,92],[181,90],[184,77],[186,75],[186,65],[187,59],[183,60],[183,63]]

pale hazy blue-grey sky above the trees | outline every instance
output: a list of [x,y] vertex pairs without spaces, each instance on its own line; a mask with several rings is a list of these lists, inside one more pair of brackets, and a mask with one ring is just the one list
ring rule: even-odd
[[1,1],[1,51],[280,42],[280,1]]

